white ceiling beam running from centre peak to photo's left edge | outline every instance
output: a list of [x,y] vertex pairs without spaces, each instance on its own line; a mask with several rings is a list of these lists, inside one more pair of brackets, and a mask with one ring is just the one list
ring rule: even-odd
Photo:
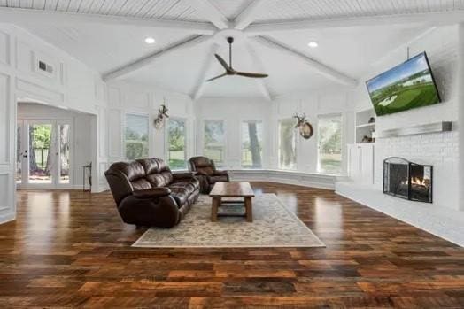
[[15,25],[35,25],[37,23],[50,25],[108,25],[135,26],[182,30],[189,34],[213,35],[217,30],[211,23],[167,20],[143,19],[128,16],[98,15],[87,13],[57,12],[33,9],[18,9],[0,7],[0,20]]

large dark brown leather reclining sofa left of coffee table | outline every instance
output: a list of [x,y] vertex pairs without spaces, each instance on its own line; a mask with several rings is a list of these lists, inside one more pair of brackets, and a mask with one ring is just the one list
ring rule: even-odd
[[174,227],[200,193],[192,173],[173,174],[160,158],[114,163],[104,175],[122,220],[136,226]]

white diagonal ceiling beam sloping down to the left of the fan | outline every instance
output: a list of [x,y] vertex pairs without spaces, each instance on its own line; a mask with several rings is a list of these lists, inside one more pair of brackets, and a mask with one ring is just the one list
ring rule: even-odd
[[133,62],[128,63],[125,66],[120,66],[117,69],[114,69],[108,73],[104,73],[103,79],[104,81],[112,81],[122,76],[128,75],[129,73],[133,73],[136,70],[143,68],[144,66],[150,65],[153,61],[166,56],[174,51],[185,50],[191,48],[193,46],[197,46],[203,42],[207,42],[211,40],[211,35],[194,35],[189,36],[189,38],[182,40],[180,42],[175,42],[172,45],[167,46],[162,50],[157,50],[143,58],[139,58]]

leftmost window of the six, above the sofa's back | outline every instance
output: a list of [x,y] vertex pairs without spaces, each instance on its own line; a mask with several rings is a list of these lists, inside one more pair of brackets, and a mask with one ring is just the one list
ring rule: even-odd
[[148,157],[148,116],[126,115],[124,144],[129,160]]

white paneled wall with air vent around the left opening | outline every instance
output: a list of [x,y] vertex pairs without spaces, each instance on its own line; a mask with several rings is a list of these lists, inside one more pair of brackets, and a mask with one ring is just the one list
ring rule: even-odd
[[[39,60],[53,66],[52,73],[39,70]],[[33,100],[96,114],[97,106],[105,104],[102,88],[104,83],[98,73],[62,50],[19,27],[0,24],[0,223],[14,219],[16,214],[17,102]],[[91,140],[89,143],[96,143]],[[93,154],[92,161],[98,166]],[[94,171],[97,174],[97,168]],[[94,189],[98,190],[98,186]]]

